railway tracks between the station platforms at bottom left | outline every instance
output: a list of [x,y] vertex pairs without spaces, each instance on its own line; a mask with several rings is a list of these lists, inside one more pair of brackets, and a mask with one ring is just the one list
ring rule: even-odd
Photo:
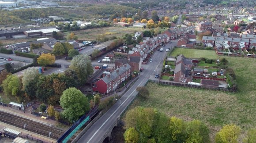
[[21,129],[24,129],[24,124],[26,124],[25,126],[26,130],[35,132],[47,137],[49,137],[49,132],[51,132],[50,136],[53,139],[59,139],[60,136],[64,134],[64,131],[62,130],[42,124],[40,122],[35,122],[33,120],[22,118],[14,114],[3,112],[3,111],[0,111],[0,122],[7,123],[9,125],[14,125]]

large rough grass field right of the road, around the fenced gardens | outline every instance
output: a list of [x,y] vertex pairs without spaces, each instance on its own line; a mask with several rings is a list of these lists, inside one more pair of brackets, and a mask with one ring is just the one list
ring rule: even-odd
[[211,130],[211,142],[223,125],[234,123],[245,131],[256,127],[256,59],[226,57],[233,68],[238,91],[229,93],[214,90],[161,86],[149,82],[150,97],[137,98],[131,107],[153,107],[169,116],[186,121],[199,119]]

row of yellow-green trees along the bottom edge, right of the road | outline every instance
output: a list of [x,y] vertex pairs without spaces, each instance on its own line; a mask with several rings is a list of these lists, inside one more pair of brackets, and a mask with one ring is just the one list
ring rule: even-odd
[[[199,120],[183,121],[168,117],[153,108],[135,107],[124,117],[125,143],[210,143],[210,130]],[[215,143],[238,143],[241,128],[224,125]],[[255,143],[256,129],[248,131],[243,143]]]

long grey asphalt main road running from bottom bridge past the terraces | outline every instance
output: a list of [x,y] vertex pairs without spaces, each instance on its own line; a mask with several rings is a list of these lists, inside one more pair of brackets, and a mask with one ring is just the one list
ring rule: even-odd
[[[113,122],[119,117],[120,112],[123,113],[125,108],[132,102],[137,95],[136,88],[138,86],[144,86],[149,78],[152,78],[154,74],[160,73],[162,69],[162,61],[166,57],[166,49],[176,46],[177,40],[172,40],[172,44],[168,43],[166,46],[162,46],[163,52],[155,51],[151,57],[152,62],[143,64],[143,72],[140,72],[139,79],[133,84],[133,86],[120,98],[121,106],[119,111],[119,101],[113,105],[97,122],[90,127],[90,129],[83,134],[78,143],[99,143],[103,135],[113,125]],[[155,72],[154,72],[155,71]]]

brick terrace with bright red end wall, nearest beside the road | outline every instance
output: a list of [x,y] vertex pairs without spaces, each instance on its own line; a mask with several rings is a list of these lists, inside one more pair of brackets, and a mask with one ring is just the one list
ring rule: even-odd
[[132,67],[129,64],[124,64],[114,72],[94,82],[92,87],[93,91],[103,94],[110,93],[117,89],[117,86],[124,82],[131,75],[131,72]]

